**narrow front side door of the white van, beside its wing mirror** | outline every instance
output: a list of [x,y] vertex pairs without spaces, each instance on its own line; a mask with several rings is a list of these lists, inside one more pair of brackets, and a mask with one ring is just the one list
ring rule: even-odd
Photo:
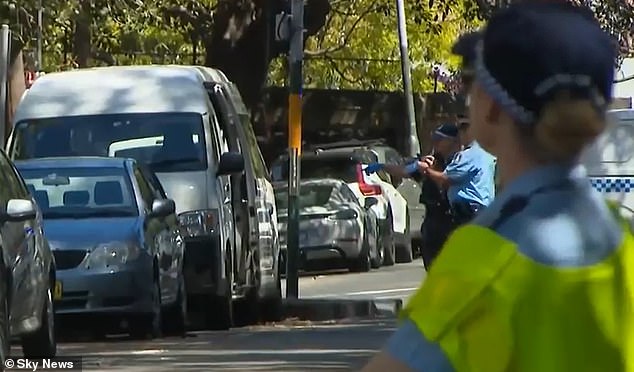
[[222,94],[222,87],[219,84],[205,84],[205,88],[214,107],[219,112],[219,125],[225,132],[229,151],[239,152],[244,156],[244,173],[232,175],[231,196],[232,205],[237,226],[236,234],[236,256],[234,257],[234,276],[236,281],[245,285],[249,270],[249,259],[251,256],[252,242],[259,236],[257,216],[256,216],[256,188],[253,178],[253,164],[250,161],[248,151],[245,150],[243,142],[240,140],[237,128],[238,121],[235,113],[231,110],[229,103]]

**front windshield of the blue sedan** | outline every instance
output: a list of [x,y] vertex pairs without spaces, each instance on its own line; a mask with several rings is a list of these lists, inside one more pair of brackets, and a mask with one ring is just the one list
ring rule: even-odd
[[45,219],[138,216],[123,168],[20,169]]

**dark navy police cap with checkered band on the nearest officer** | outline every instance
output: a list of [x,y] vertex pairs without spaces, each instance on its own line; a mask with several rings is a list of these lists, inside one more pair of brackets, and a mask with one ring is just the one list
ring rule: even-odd
[[617,49],[590,10],[563,2],[522,2],[489,20],[476,48],[476,81],[510,116],[530,125],[561,91],[611,101]]

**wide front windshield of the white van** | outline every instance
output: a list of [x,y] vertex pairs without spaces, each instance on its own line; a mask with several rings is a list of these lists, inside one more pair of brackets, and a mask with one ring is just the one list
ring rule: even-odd
[[134,158],[155,172],[207,169],[200,114],[156,113],[58,117],[17,124],[13,159],[55,156]]

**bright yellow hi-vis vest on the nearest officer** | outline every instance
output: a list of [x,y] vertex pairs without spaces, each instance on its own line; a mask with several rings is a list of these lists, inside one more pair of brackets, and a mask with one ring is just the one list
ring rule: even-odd
[[[403,311],[456,372],[634,372],[634,237],[588,267],[539,264],[465,225]],[[434,371],[429,371],[434,372]]]

